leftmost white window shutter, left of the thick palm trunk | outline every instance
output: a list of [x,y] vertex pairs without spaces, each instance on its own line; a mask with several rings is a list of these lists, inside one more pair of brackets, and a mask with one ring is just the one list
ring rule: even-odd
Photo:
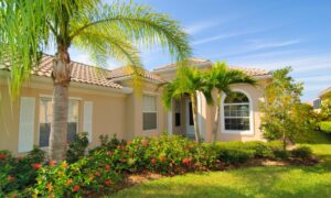
[[21,97],[19,153],[30,152],[33,148],[35,99]]

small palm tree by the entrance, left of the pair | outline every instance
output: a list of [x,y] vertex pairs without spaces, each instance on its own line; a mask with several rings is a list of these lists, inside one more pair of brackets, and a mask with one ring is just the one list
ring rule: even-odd
[[178,70],[177,78],[167,84],[163,89],[163,105],[171,108],[172,99],[180,99],[184,95],[189,95],[192,102],[193,122],[195,141],[201,142],[199,122],[197,122],[197,103],[196,94],[201,91],[207,103],[212,105],[212,89],[210,84],[204,80],[204,75],[194,67],[181,66]]

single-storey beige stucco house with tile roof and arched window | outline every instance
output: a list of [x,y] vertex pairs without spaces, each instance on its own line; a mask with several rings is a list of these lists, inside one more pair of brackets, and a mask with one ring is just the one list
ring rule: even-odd
[[[10,65],[0,67],[0,150],[19,154],[30,151],[33,145],[49,146],[52,120],[52,62],[53,56],[43,55],[40,66],[23,84],[20,98],[11,101],[8,95]],[[191,58],[190,65],[210,69],[207,59]],[[128,67],[114,70],[96,68],[77,62],[71,63],[72,82],[70,87],[67,139],[78,131],[88,132],[90,146],[99,144],[98,136],[116,134],[119,139],[154,136],[168,131],[170,134],[193,136],[191,101],[182,97],[173,101],[170,111],[161,102],[160,85],[173,79],[175,64],[140,70],[140,91],[134,89],[134,73]],[[259,130],[259,102],[264,101],[264,86],[270,79],[267,70],[232,67],[241,69],[258,80],[258,86],[234,85],[236,97],[222,99],[221,128],[218,141],[261,140]],[[211,141],[215,107],[206,105],[199,94],[199,127],[202,138]]]

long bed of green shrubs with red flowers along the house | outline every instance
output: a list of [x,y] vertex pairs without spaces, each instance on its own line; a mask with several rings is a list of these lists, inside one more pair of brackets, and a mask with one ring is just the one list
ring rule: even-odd
[[0,151],[0,191],[3,193],[0,197],[26,188],[24,194],[34,197],[93,197],[116,189],[125,175],[131,173],[201,170],[215,168],[217,162],[244,163],[253,157],[274,157],[281,151],[278,142],[197,144],[175,135],[136,138],[132,141],[103,136],[100,141],[102,145],[89,151],[87,156],[83,156],[84,146],[77,146],[79,150],[73,146],[73,154],[82,155],[74,163],[43,163],[44,153],[40,150],[21,158]]

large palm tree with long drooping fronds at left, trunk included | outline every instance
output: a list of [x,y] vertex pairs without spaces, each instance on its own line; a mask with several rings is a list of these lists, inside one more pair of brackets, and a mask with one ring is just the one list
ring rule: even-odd
[[[97,65],[107,57],[141,66],[139,47],[160,44],[177,61],[191,54],[178,22],[132,2],[104,4],[100,0],[0,0],[0,52],[10,54],[11,94],[19,89],[40,53],[53,44],[53,120],[50,158],[64,160],[71,82],[68,48],[90,54]],[[0,56],[0,61],[8,56]]]

